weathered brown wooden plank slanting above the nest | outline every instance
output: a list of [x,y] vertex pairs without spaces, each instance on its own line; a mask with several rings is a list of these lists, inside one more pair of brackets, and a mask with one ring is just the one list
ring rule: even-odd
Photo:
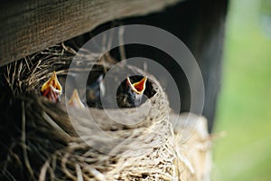
[[98,24],[149,14],[178,0],[11,1],[0,10],[0,66],[42,51]]

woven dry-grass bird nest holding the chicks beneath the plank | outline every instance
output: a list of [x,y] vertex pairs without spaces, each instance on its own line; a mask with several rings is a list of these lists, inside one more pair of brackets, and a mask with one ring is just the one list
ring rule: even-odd
[[[108,54],[98,58],[89,52],[71,70],[74,54],[60,44],[2,68],[1,180],[208,178],[210,138],[206,120],[194,116],[201,123],[198,129],[186,127],[187,116],[178,118],[171,113],[164,90],[145,71],[126,64],[116,71],[121,73],[125,68],[131,75],[148,76],[147,99],[136,108],[117,109],[110,104],[103,109],[69,108],[65,103],[65,96],[70,97],[67,89],[63,89],[60,103],[42,97],[42,83],[52,71],[65,88],[68,71],[86,71],[87,64],[99,59],[89,73],[95,77],[116,63]],[[114,76],[110,79],[117,81]],[[172,119],[178,119],[178,124],[173,126]],[[194,131],[185,142],[181,141],[184,129]]]

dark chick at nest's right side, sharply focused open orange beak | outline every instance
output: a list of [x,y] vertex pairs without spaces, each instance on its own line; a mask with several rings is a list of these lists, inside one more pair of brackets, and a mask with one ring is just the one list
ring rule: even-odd
[[145,76],[141,81],[132,83],[130,78],[126,78],[126,90],[118,96],[118,106],[120,108],[133,108],[139,106],[145,91],[145,83],[147,77]]

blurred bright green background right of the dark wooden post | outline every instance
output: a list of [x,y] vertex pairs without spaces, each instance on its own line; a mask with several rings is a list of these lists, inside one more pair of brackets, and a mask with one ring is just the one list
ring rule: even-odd
[[212,180],[271,180],[271,0],[231,0]]

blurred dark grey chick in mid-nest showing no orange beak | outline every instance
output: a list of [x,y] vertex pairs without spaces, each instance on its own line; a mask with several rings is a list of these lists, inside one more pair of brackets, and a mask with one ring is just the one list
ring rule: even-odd
[[97,81],[87,85],[86,88],[86,100],[89,106],[99,107],[100,97],[105,96],[106,88],[103,81],[103,75],[99,75]]

